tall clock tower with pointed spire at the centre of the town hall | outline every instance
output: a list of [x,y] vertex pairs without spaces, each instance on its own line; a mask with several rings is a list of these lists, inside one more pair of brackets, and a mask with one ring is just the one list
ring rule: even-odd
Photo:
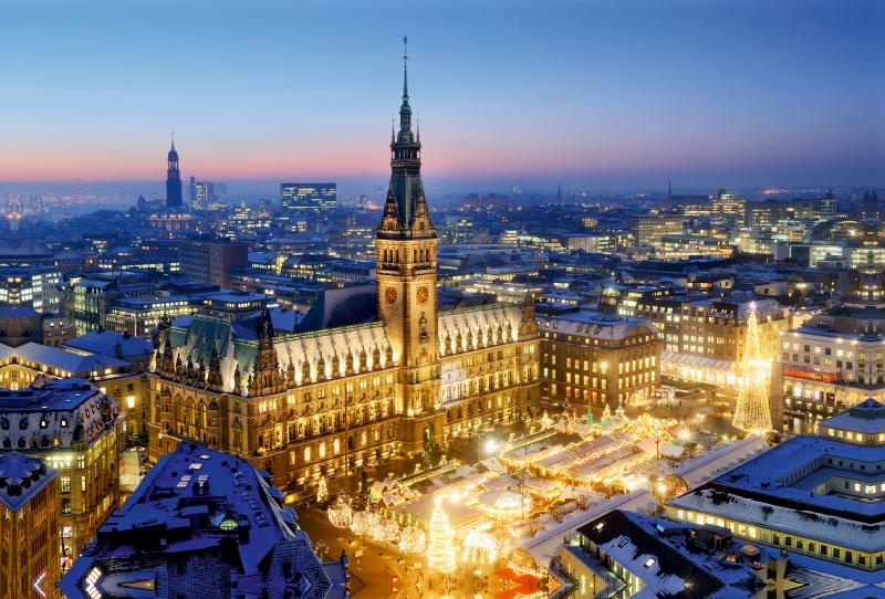
[[[436,288],[439,239],[424,196],[420,132],[416,135],[412,130],[408,57],[404,56],[403,61],[399,133],[392,132],[391,185],[375,237],[377,314],[387,325],[394,359],[402,366],[402,382],[406,389],[404,411],[418,416],[439,408],[435,375],[439,366]],[[416,434],[418,431],[406,432],[405,437]]]

